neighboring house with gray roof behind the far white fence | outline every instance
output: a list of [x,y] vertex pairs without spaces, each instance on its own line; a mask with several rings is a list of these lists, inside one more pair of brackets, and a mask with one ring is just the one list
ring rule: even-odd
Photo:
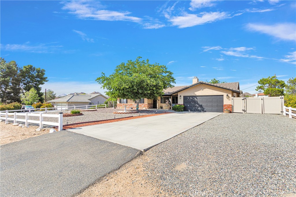
[[103,104],[108,97],[102,94],[85,94],[85,95],[67,95],[60,97],[50,102],[54,107],[67,107],[79,105],[96,105]]

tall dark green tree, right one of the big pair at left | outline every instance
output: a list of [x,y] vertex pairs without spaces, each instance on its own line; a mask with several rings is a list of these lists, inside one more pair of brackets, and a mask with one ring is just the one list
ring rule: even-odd
[[41,68],[36,68],[32,65],[23,66],[21,72],[22,77],[22,88],[25,92],[30,91],[30,89],[34,88],[38,94],[38,101],[44,102],[44,93],[41,92],[40,85],[43,85],[47,82],[47,77],[45,77],[45,70]]

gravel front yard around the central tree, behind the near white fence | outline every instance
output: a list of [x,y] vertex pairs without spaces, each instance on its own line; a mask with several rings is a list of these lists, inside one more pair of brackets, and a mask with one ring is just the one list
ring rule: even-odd
[[[114,114],[115,111],[123,111],[124,109],[113,109],[113,108],[101,108],[97,111],[82,111],[83,115],[73,116],[73,117],[64,117],[63,124],[78,123],[78,122],[88,122],[88,121],[98,121],[98,120],[107,120],[115,118],[123,118],[128,116],[139,116],[139,115],[149,115],[155,113],[163,113],[161,111],[153,111],[153,110],[140,110],[139,113],[133,114]],[[128,110],[127,110],[128,111]],[[59,112],[48,112],[51,114],[58,114]],[[70,111],[63,111],[63,113],[70,113]],[[22,117],[23,118],[23,117]],[[39,120],[39,117],[29,116],[30,120]],[[44,121],[48,122],[58,122],[58,118],[52,117],[44,117]]]

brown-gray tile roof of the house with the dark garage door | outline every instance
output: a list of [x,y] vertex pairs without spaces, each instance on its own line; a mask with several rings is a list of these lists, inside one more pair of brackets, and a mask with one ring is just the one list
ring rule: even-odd
[[189,87],[195,86],[197,84],[208,84],[208,85],[212,85],[212,86],[216,86],[216,87],[221,87],[221,88],[224,88],[224,89],[229,89],[229,90],[232,90],[234,92],[242,93],[242,91],[239,90],[239,82],[211,84],[211,83],[208,83],[208,82],[199,81],[199,82],[197,82],[195,84],[191,84],[191,85],[188,85],[188,86],[175,86],[175,87],[172,87],[172,88],[164,89],[163,90],[164,95],[172,95],[172,94],[180,92],[180,91],[182,91],[184,89],[187,89]]

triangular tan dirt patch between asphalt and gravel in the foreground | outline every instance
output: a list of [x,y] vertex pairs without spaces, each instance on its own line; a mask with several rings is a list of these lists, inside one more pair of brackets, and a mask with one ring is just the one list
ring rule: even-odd
[[140,155],[115,172],[106,175],[102,180],[90,186],[76,197],[90,196],[174,196],[163,191],[158,180],[150,178],[143,163],[149,158]]

